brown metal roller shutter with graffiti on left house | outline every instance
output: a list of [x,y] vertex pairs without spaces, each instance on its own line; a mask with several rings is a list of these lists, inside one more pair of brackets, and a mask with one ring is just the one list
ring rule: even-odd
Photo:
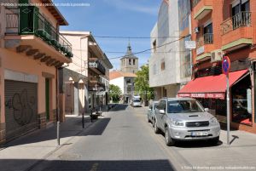
[[38,128],[38,84],[5,80],[6,140]]

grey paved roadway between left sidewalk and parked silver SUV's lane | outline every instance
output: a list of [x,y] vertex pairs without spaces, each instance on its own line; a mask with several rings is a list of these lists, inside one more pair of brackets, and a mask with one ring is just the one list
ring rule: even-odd
[[173,170],[143,113],[144,108],[116,106],[32,170]]

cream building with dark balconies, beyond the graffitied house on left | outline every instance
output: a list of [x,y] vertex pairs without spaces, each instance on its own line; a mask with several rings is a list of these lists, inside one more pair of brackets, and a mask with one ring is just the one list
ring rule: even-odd
[[73,74],[63,80],[66,112],[88,113],[98,105],[108,105],[109,70],[113,68],[108,57],[90,31],[61,33],[73,44],[73,63],[67,69],[77,73],[76,77]]

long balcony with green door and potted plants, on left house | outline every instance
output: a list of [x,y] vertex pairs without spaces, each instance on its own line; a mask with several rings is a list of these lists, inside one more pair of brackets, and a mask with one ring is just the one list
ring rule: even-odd
[[72,45],[34,7],[6,14],[5,48],[33,56],[48,66],[70,63]]

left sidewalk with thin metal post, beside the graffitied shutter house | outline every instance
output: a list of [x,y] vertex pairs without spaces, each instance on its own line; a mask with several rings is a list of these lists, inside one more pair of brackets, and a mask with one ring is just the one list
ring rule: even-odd
[[[90,127],[91,124],[93,123],[90,122],[90,117],[85,116],[84,129]],[[31,134],[26,134],[17,140],[2,145],[0,147],[1,171],[28,170],[33,164],[48,157],[61,146],[68,145],[68,141],[72,140],[74,136],[79,136],[84,129],[82,128],[81,116],[67,116],[66,122],[61,123],[60,127],[60,146],[57,145],[56,140],[56,125],[43,130],[38,129]],[[28,162],[17,162],[24,159]]]

